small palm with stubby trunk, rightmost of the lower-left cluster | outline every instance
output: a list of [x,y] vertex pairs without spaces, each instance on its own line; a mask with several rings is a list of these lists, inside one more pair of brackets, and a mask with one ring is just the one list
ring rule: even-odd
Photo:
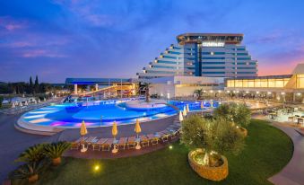
[[53,165],[59,165],[61,163],[61,156],[65,150],[69,149],[71,144],[65,141],[58,143],[48,144],[44,147],[44,154],[52,159]]

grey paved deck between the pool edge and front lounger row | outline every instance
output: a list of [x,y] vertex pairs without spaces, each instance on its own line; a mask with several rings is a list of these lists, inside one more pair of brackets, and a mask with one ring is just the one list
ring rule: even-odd
[[[13,161],[30,145],[44,142],[56,142],[59,140],[73,141],[79,136],[79,129],[67,129],[52,137],[30,135],[22,133],[14,128],[13,124],[20,118],[19,115],[5,115],[0,113],[0,182],[7,178],[8,172],[12,172],[20,163]],[[142,134],[150,134],[168,128],[172,124],[174,117],[152,120],[141,123]],[[131,137],[135,135],[135,125],[125,125],[118,127],[117,137]],[[112,128],[88,128],[90,136],[112,137]]]

